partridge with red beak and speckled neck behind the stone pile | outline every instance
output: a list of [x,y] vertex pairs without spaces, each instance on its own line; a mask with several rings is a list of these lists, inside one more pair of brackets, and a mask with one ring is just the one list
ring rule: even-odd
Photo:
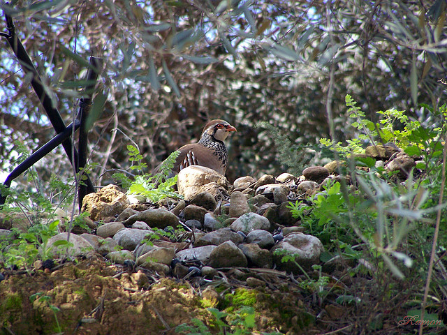
[[186,144],[179,148],[179,156],[175,161],[174,172],[190,165],[201,165],[225,175],[228,165],[228,151],[223,141],[230,134],[237,131],[235,127],[223,120],[212,120],[203,128],[198,143]]

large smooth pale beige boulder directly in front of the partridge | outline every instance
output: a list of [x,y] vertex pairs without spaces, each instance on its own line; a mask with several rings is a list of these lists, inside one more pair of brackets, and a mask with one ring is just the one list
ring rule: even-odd
[[[212,186],[206,186],[207,184],[212,184]],[[183,195],[185,200],[191,200],[203,192],[211,193],[213,197],[216,197],[220,195],[221,188],[223,191],[226,191],[228,181],[221,174],[210,168],[191,165],[180,170],[177,179],[177,188],[179,194]]]

